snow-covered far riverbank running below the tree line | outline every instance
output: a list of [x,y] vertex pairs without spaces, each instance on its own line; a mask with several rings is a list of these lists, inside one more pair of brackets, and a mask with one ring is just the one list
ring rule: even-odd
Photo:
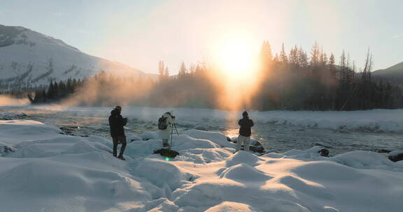
[[[173,108],[124,107],[122,114],[131,119],[153,121]],[[0,107],[1,111],[30,110],[69,112],[87,116],[108,116],[111,107],[62,107],[59,105],[37,105],[20,107]],[[183,125],[203,126],[204,123],[229,123],[239,119],[240,112],[218,109],[174,108],[178,122]],[[403,132],[403,109],[372,109],[365,111],[250,111],[250,118],[256,123],[301,126],[304,128],[323,128],[332,130],[363,130],[372,132]],[[1,116],[1,113],[0,113]]]

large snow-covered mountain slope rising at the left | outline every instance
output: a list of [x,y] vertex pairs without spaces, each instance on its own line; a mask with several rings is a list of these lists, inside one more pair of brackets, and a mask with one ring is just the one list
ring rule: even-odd
[[0,90],[38,86],[69,77],[83,79],[101,70],[120,76],[148,75],[122,63],[85,54],[42,33],[0,24]]

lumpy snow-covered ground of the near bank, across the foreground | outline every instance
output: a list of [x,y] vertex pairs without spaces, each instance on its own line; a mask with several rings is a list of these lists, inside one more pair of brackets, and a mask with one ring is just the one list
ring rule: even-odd
[[122,161],[111,156],[109,139],[61,133],[38,121],[0,121],[0,145],[8,146],[0,157],[0,211],[367,212],[403,206],[403,162],[370,151],[324,158],[315,146],[233,154],[225,135],[183,130],[174,137],[176,158],[153,154],[160,140],[132,135]]

